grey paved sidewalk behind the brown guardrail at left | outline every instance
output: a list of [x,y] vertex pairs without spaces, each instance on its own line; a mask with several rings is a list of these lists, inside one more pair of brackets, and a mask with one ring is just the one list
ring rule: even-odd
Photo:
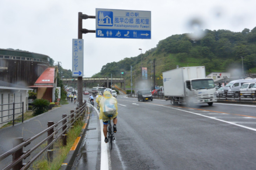
[[[58,122],[62,119],[62,114],[69,115],[70,111],[75,110],[75,108],[76,105],[73,103],[61,105],[61,107],[53,108],[52,110],[28,119],[23,123],[17,123],[14,126],[0,129],[0,155],[13,148],[13,138],[23,137],[23,140],[27,140],[46,129],[48,127],[48,121],[53,121],[54,123]],[[45,137],[47,137],[47,133],[38,137],[27,147],[23,148],[23,151],[31,149],[31,147],[35,146],[36,143],[39,143]],[[26,159],[25,162],[26,161],[28,161],[28,159]],[[12,155],[0,162],[0,169],[10,162],[12,162]]]

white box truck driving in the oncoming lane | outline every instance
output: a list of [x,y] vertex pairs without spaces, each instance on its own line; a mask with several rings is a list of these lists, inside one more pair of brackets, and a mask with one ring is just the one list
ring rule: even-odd
[[206,78],[204,66],[182,67],[163,72],[164,96],[172,105],[217,102],[212,78]]

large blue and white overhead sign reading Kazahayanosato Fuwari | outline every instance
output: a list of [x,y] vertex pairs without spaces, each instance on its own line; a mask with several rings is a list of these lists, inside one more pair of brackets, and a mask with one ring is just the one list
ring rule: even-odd
[[96,37],[151,39],[151,12],[96,8]]

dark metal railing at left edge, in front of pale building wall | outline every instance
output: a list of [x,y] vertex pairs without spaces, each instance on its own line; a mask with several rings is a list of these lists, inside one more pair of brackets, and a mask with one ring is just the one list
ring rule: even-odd
[[[22,104],[21,107],[15,107],[16,104]],[[12,119],[11,120],[7,120],[7,121],[0,121],[0,124],[3,124],[3,123],[8,123],[8,122],[13,122],[12,125],[14,126],[14,121],[15,120],[18,120],[18,119],[21,119],[22,123],[23,123],[23,115],[24,115],[24,102],[19,102],[19,103],[9,103],[9,104],[1,104],[0,107],[4,107],[4,106],[12,106],[12,108],[10,109],[5,109],[5,110],[1,110],[0,112],[6,112],[6,111],[12,111],[12,114],[9,114],[9,115],[5,115],[5,116],[0,116],[0,119],[2,120],[3,118],[6,118],[6,117],[9,117],[9,116],[12,116]],[[21,112],[18,112],[18,113],[15,113],[15,110],[16,109],[21,109]],[[15,118],[15,115],[18,115],[18,114],[22,114],[21,118]]]

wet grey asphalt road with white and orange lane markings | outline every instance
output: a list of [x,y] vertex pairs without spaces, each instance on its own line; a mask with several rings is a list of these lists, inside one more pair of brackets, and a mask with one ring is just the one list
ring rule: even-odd
[[[117,101],[116,140],[113,149],[108,150],[108,158],[100,157],[98,122],[94,133],[99,137],[97,154],[91,158],[87,154],[76,169],[86,166],[88,169],[91,165],[93,167],[89,169],[106,169],[100,166],[102,159],[108,159],[108,168],[112,170],[241,170],[256,167],[254,105],[214,103],[213,106],[202,104],[188,108],[186,105],[171,106],[170,101],[165,100],[138,102],[136,98],[124,95],[119,95]],[[93,160],[94,163],[89,163]]]

